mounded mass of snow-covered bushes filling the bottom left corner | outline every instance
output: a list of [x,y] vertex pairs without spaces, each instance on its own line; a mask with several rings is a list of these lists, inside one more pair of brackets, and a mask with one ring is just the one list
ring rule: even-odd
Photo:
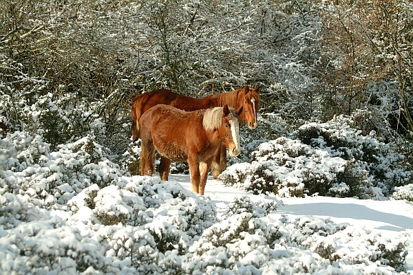
[[0,195],[1,272],[163,273],[164,254],[186,254],[215,223],[211,201],[152,177],[119,177],[58,201],[49,211],[20,194]]

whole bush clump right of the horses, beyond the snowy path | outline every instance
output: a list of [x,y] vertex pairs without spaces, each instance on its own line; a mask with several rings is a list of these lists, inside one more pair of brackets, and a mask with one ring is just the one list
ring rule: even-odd
[[403,155],[374,133],[361,135],[338,118],[304,124],[290,138],[261,143],[251,157],[251,164],[234,164],[220,179],[255,194],[381,199],[412,178]]

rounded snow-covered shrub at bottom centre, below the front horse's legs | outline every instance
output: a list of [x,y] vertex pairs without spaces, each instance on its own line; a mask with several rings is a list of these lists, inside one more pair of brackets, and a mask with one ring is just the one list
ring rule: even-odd
[[254,218],[244,212],[235,214],[205,230],[199,241],[189,249],[209,267],[234,270],[249,266],[257,270],[271,255],[271,248],[288,243],[288,232],[281,222]]

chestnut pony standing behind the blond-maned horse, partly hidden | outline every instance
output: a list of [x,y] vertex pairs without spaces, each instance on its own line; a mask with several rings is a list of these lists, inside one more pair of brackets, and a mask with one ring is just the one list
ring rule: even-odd
[[[205,98],[191,98],[175,94],[167,89],[156,89],[149,93],[135,96],[131,104],[132,135],[134,141],[140,138],[139,120],[145,111],[156,104],[167,104],[184,111],[195,111],[199,109],[209,109],[213,107],[224,107],[228,105],[234,109],[243,107],[243,111],[238,117],[240,121],[248,124],[250,129],[255,129],[258,124],[257,111],[260,103],[260,87],[250,89],[248,85],[244,89],[229,91],[224,94],[213,94]],[[162,159],[161,159],[162,163]],[[226,169],[226,148],[222,146],[215,156],[212,164],[212,174],[214,179]],[[167,179],[165,179],[167,180]]]

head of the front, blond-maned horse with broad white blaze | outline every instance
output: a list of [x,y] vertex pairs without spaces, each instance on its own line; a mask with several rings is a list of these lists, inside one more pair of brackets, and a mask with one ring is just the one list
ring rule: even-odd
[[233,157],[240,155],[241,151],[238,115],[240,115],[242,109],[243,107],[235,111],[235,109],[229,109],[228,105],[225,105],[222,112],[222,124],[219,133],[222,143],[228,148],[229,155]]

